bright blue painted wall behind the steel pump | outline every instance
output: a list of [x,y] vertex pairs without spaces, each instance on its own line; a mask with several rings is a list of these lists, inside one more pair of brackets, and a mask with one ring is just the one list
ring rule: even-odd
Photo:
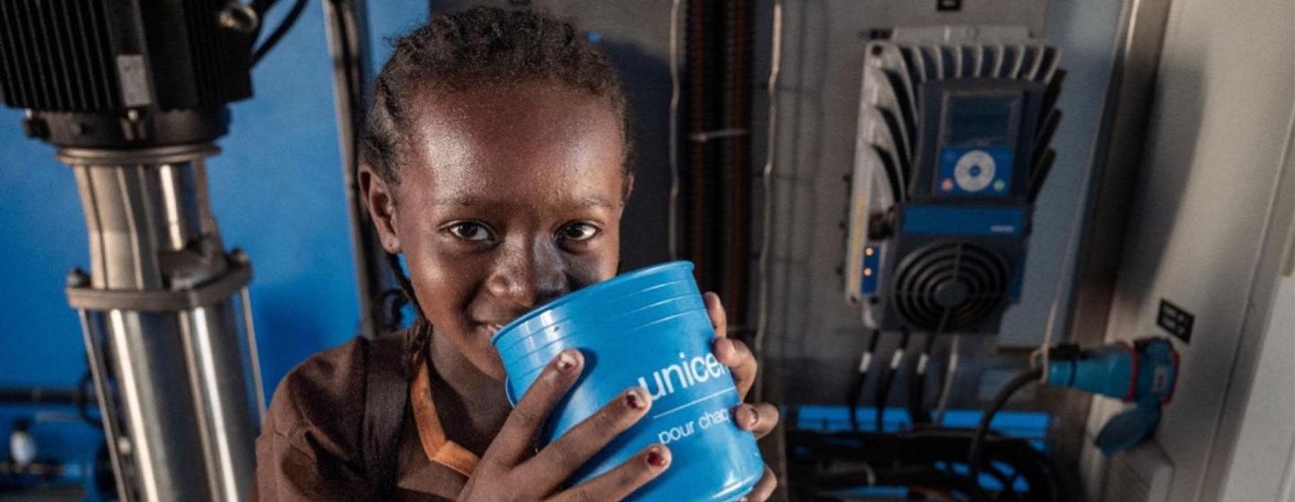
[[[426,5],[370,3],[376,66],[390,54],[385,40],[425,21]],[[227,246],[253,257],[254,318],[272,391],[359,323],[322,3],[310,4],[253,78],[255,96],[233,105],[208,177]],[[62,285],[71,267],[89,265],[85,224],[71,171],[53,147],[25,138],[19,119],[0,109],[0,387],[70,387],[85,365]]]

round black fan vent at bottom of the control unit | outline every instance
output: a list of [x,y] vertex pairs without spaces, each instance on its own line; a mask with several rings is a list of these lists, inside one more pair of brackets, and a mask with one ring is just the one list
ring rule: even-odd
[[984,247],[934,242],[900,261],[895,308],[908,325],[921,330],[970,330],[1002,307],[1011,269],[1008,259]]

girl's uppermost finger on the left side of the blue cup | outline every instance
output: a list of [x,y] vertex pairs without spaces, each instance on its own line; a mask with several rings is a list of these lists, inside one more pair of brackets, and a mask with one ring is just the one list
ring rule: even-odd
[[531,449],[535,436],[544,427],[553,406],[580,376],[584,356],[578,349],[566,349],[553,357],[508,415],[499,436],[491,442],[482,459],[508,466],[517,464]]

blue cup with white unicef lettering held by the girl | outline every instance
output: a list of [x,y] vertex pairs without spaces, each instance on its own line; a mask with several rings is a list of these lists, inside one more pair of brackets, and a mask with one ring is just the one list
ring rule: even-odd
[[728,367],[711,353],[714,339],[693,264],[672,261],[562,296],[504,326],[491,342],[504,360],[513,404],[558,352],[584,355],[584,373],[549,417],[543,444],[629,387],[651,396],[648,415],[580,467],[571,484],[662,442],[671,450],[670,468],[628,499],[726,502],[751,492],[764,461],[755,437],[733,422],[741,400]]

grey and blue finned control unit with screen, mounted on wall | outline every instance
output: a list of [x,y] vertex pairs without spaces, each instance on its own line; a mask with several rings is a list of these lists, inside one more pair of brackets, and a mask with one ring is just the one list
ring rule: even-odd
[[870,327],[993,333],[1019,299],[1058,57],[1039,40],[869,44],[846,294]]

